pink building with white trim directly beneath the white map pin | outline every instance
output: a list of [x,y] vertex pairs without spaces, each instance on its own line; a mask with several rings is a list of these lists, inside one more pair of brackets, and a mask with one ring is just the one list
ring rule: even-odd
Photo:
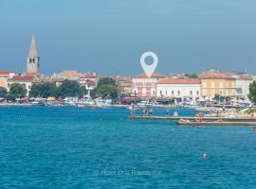
[[151,77],[147,77],[145,73],[132,77],[133,95],[138,97],[155,97],[156,83],[166,78],[165,76],[153,73]]

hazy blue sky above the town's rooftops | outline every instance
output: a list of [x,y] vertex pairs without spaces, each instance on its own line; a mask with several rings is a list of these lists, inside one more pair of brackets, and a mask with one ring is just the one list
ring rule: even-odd
[[40,72],[137,75],[209,68],[256,74],[255,0],[0,0],[0,70],[26,70],[36,33]]

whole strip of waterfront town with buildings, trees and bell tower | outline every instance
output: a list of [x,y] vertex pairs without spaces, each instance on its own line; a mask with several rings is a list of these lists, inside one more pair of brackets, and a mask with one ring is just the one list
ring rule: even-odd
[[[198,74],[164,76],[99,76],[95,72],[64,70],[46,77],[40,73],[36,37],[32,35],[27,70],[0,71],[1,105],[68,105],[98,107],[226,106],[251,107],[249,86],[256,77],[241,72],[209,69]],[[43,89],[42,89],[43,88]],[[43,91],[43,92],[42,92]],[[55,93],[54,93],[55,92]]]

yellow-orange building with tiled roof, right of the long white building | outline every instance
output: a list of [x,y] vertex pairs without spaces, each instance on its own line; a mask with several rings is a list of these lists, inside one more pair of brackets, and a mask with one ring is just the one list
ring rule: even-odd
[[216,70],[204,72],[201,76],[201,96],[205,100],[211,100],[215,94],[221,96],[235,96],[235,78],[229,73]]

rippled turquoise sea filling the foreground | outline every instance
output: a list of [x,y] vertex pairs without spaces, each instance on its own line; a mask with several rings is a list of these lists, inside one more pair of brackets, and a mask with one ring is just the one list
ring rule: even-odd
[[0,188],[256,188],[252,128],[178,127],[128,115],[0,107]]

